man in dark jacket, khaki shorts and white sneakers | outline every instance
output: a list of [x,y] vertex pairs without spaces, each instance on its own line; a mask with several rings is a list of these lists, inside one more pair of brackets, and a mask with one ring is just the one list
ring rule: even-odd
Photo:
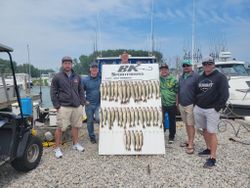
[[82,106],[85,104],[81,78],[72,69],[72,58],[62,58],[62,71],[57,73],[51,83],[50,96],[57,109],[57,129],[55,132],[55,156],[61,158],[60,149],[62,132],[71,125],[73,149],[84,151],[78,143],[78,129],[82,126]]

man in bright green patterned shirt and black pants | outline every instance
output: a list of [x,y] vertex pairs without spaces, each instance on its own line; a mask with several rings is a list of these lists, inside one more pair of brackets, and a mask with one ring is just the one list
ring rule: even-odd
[[[177,92],[178,82],[177,79],[170,74],[167,64],[160,66],[160,92],[162,102],[163,124],[165,125],[165,113],[168,113],[169,117],[169,144],[174,142],[176,133],[176,104],[177,104]],[[164,128],[164,131],[166,129]]]

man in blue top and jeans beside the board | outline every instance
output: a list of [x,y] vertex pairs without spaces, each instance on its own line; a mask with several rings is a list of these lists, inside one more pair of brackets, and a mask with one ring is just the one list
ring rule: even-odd
[[91,143],[96,143],[94,133],[94,119],[99,122],[99,108],[100,108],[100,85],[101,78],[99,76],[99,69],[97,63],[91,63],[89,76],[82,80],[83,88],[86,94],[85,111],[87,115],[87,128]]

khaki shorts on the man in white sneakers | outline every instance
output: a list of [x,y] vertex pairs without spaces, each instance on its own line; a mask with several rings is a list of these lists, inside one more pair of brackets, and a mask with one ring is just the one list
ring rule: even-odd
[[71,125],[72,127],[80,128],[82,126],[82,105],[79,107],[61,106],[57,112],[57,126],[66,131]]

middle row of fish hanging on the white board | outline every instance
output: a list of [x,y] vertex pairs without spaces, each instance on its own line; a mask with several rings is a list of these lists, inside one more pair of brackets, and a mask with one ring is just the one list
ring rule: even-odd
[[135,126],[160,126],[162,128],[161,107],[106,107],[99,109],[100,127],[112,129],[117,122],[124,129]]

